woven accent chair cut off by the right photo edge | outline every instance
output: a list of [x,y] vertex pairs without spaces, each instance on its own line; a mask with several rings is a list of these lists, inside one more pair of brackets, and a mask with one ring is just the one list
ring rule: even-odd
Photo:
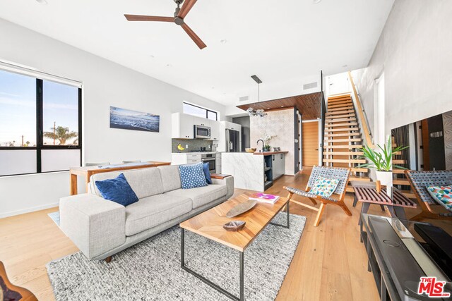
[[[432,207],[441,207],[427,191],[427,186],[451,185],[452,171],[405,171],[410,181],[411,189],[415,192],[422,212],[412,217],[412,221],[421,219],[451,219],[452,212],[438,212]],[[444,209],[445,211],[446,209]]]

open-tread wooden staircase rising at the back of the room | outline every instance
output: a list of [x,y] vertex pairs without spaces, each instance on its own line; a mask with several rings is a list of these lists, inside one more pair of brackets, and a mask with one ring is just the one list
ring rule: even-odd
[[[350,94],[328,97],[324,136],[323,166],[348,167],[352,171],[350,180],[369,182],[368,168],[357,167],[366,163],[366,160],[358,159],[362,155],[359,152],[362,139]],[[354,190],[349,185],[347,191]]]

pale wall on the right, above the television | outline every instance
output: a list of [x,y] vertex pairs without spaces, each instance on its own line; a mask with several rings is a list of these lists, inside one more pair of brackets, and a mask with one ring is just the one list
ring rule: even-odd
[[374,133],[375,79],[385,76],[385,131],[452,109],[452,1],[396,0],[367,68],[354,71]]

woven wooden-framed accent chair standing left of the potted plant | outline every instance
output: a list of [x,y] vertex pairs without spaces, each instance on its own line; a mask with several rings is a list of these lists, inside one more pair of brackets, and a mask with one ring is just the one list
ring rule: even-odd
[[[347,188],[349,176],[350,168],[314,166],[314,168],[312,168],[311,176],[309,177],[309,181],[305,190],[299,190],[297,188],[291,187],[284,187],[284,189],[289,192],[288,198],[290,199],[290,202],[318,211],[316,220],[314,221],[314,227],[316,227],[319,226],[320,219],[327,204],[339,206],[340,208],[343,209],[343,211],[345,211],[345,214],[347,214],[348,216],[352,216],[352,212],[350,212],[350,210],[344,203],[345,190]],[[321,197],[320,195],[314,195],[313,193],[309,193],[309,190],[311,190],[311,188],[314,186],[314,183],[316,183],[317,178],[319,177],[339,180],[338,186],[333,192],[333,195],[339,195],[338,198],[332,197],[333,195],[331,195],[331,197]],[[314,205],[316,205],[317,201],[319,201],[321,202],[320,207],[316,208],[314,206],[295,201],[294,199],[292,199],[294,194],[309,198]]]

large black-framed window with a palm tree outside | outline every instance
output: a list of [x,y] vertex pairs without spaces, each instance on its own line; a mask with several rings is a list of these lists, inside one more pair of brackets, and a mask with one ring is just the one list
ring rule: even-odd
[[81,166],[81,88],[0,70],[0,176]]

